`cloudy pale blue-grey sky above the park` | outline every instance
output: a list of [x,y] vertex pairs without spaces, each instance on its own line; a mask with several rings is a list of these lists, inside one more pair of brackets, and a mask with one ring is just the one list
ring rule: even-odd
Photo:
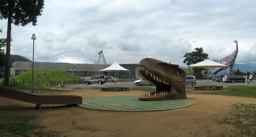
[[[254,0],[45,0],[37,26],[12,25],[11,54],[51,62],[64,51],[95,60],[103,50],[107,64],[137,64],[152,57],[183,64],[183,55],[202,47],[209,58],[232,54],[236,63],[256,63]],[[0,20],[6,37],[7,20]]]

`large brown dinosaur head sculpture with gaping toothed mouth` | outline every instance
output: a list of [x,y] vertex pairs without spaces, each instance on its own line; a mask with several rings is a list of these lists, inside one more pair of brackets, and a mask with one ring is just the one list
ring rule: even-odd
[[186,99],[186,73],[177,64],[169,64],[153,58],[144,58],[138,64],[140,76],[154,83],[156,91],[143,92],[139,100]]

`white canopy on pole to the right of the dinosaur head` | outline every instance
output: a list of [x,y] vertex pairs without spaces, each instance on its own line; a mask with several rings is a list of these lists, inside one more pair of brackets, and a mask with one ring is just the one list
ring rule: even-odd
[[216,67],[227,67],[227,65],[220,64],[211,60],[205,60],[197,64],[192,64],[189,67],[197,67],[197,68],[206,68],[207,69],[207,86],[209,85],[209,69],[210,68],[216,68]]

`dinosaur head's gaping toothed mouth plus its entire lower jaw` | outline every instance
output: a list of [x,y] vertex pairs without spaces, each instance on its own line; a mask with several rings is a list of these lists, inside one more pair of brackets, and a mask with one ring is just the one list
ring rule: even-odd
[[174,100],[186,98],[186,95],[177,91],[170,81],[161,79],[143,65],[138,66],[138,72],[144,80],[153,83],[156,87],[156,91],[143,92],[139,100]]

